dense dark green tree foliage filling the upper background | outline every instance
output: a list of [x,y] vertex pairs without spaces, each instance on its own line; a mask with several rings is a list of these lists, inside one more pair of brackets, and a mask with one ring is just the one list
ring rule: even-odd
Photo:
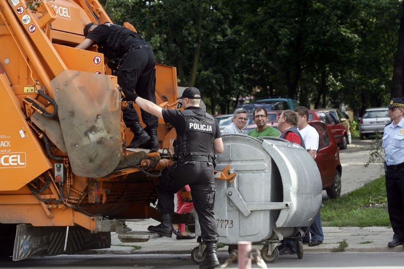
[[158,63],[177,68],[180,86],[199,87],[214,114],[249,94],[360,113],[388,101],[399,0],[101,2]]

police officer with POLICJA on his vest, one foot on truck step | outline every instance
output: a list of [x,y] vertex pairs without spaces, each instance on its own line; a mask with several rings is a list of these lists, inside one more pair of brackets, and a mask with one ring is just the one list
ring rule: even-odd
[[207,244],[206,258],[199,268],[219,266],[216,243],[219,239],[213,211],[215,204],[214,167],[215,153],[224,150],[217,121],[200,107],[200,92],[189,87],[178,99],[182,99],[184,111],[162,109],[153,102],[124,90],[127,100],[136,102],[143,110],[164,119],[174,126],[177,139],[174,142],[174,165],[163,173],[157,184],[158,208],[162,223],[149,226],[150,232],[171,237],[174,212],[174,194],[185,185],[191,188],[192,201],[198,214],[201,238]]

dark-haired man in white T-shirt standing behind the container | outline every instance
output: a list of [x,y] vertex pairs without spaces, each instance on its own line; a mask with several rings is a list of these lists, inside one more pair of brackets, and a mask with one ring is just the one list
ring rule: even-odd
[[[301,137],[305,140],[306,149],[309,154],[316,160],[316,153],[319,147],[319,133],[317,130],[308,124],[309,111],[305,106],[299,106],[294,109],[298,115],[297,128],[299,129]],[[312,240],[309,242],[310,237]],[[324,234],[323,227],[321,226],[321,214],[320,211],[314,219],[312,226],[303,238],[303,242],[309,242],[309,247],[318,246],[323,243]]]

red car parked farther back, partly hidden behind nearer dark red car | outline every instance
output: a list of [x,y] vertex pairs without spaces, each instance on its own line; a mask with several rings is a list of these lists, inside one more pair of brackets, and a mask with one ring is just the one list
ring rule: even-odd
[[330,128],[331,133],[340,149],[345,149],[348,143],[348,133],[345,127],[332,116],[329,111],[309,110],[309,120],[323,121]]

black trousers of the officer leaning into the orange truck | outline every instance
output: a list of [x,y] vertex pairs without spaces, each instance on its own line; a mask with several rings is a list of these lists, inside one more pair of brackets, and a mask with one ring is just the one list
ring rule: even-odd
[[[136,93],[149,101],[156,103],[156,59],[150,47],[130,48],[121,59],[117,70],[118,84],[125,90]],[[157,128],[158,118],[143,110],[143,123],[147,128]],[[123,110],[123,120],[130,127],[139,121],[139,116],[133,106]]]

